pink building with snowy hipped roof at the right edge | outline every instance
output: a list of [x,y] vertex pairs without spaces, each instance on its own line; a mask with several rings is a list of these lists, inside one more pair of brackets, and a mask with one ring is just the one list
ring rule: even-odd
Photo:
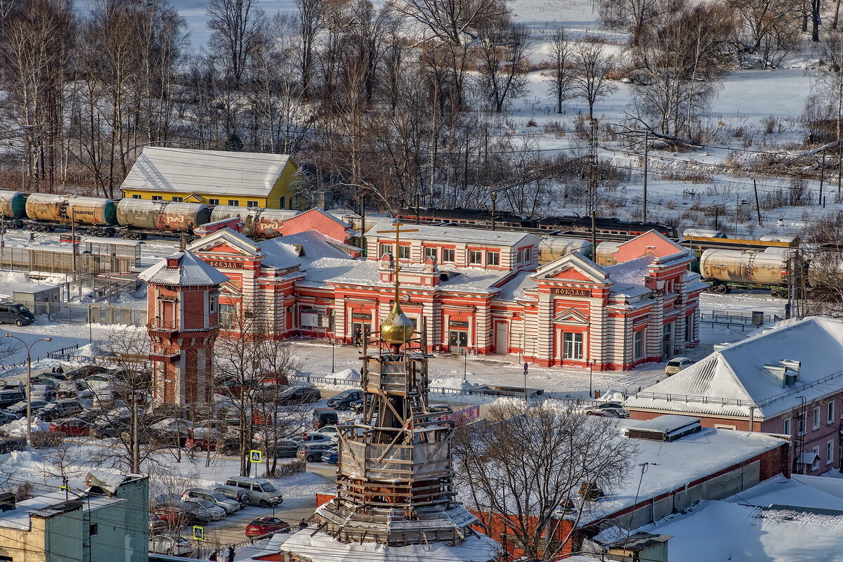
[[794,472],[819,474],[840,468],[841,365],[843,322],[786,321],[723,346],[625,407],[636,420],[679,413],[700,416],[706,427],[786,435]]

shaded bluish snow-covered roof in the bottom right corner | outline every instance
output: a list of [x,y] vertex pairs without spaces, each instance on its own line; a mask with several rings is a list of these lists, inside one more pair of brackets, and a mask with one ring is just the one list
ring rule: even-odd
[[[840,560],[840,497],[813,488],[805,478],[769,479],[726,500],[701,501],[641,530],[670,535],[670,559],[682,562]],[[607,529],[598,538],[623,538],[626,533]]]

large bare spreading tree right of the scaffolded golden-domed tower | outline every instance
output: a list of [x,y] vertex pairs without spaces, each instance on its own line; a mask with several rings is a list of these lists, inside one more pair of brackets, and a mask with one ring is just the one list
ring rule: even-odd
[[558,511],[572,506],[572,528],[588,512],[583,483],[610,492],[626,479],[632,440],[614,420],[544,404],[494,405],[480,424],[459,428],[454,439],[457,479],[468,507],[495,516],[524,556],[556,559],[571,538],[557,536]]

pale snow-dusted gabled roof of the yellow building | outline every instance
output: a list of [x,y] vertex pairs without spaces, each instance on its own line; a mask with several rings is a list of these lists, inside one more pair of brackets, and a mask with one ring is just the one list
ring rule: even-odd
[[145,147],[121,190],[266,197],[290,159],[287,154]]

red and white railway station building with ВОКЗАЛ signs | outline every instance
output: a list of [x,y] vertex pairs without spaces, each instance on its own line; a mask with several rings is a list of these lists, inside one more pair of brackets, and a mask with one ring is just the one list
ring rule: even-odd
[[358,343],[389,313],[397,259],[401,307],[427,330],[433,353],[621,370],[699,342],[706,285],[688,270],[692,255],[659,233],[619,244],[616,265],[574,252],[540,266],[533,234],[402,225],[396,249],[394,229],[383,222],[368,230],[366,258],[315,230],[258,243],[223,229],[188,250],[228,277],[219,294],[223,337]]

